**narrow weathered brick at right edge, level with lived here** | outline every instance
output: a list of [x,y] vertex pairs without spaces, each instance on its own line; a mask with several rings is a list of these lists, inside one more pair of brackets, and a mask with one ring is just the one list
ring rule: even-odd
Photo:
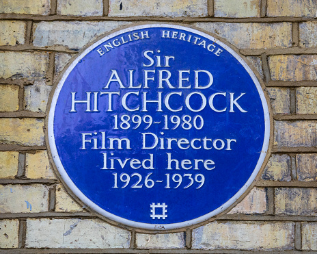
[[317,154],[307,153],[296,155],[297,179],[299,181],[317,180]]

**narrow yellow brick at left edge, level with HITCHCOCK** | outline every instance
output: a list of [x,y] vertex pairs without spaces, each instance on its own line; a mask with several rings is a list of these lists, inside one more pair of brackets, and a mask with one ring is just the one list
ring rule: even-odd
[[18,110],[18,86],[0,85],[0,111]]

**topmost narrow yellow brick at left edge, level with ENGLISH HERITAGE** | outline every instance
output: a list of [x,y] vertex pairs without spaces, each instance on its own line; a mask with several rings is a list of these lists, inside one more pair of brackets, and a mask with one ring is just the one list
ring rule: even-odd
[[0,21],[0,45],[23,45],[25,27],[23,21]]

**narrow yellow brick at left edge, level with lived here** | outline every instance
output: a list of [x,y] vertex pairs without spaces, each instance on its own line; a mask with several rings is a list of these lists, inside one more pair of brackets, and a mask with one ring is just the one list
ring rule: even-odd
[[14,178],[18,173],[18,152],[0,152],[0,178]]

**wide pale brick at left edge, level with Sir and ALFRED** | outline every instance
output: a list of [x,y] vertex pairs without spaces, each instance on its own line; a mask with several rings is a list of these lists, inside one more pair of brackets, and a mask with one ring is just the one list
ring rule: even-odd
[[28,80],[44,79],[49,55],[39,52],[0,52],[0,78]]

